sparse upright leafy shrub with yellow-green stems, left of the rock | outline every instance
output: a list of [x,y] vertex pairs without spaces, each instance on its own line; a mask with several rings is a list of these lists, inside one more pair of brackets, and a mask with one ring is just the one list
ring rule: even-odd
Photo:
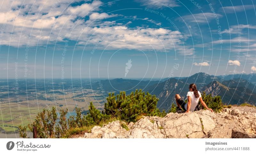
[[37,129],[37,138],[62,138],[68,137],[68,131],[74,128],[81,128],[92,125],[92,118],[90,115],[82,116],[81,109],[76,109],[76,116],[66,117],[68,109],[60,110],[60,120],[57,122],[58,114],[56,108],[52,107],[51,110],[43,109],[36,116],[35,121],[28,126],[19,126],[20,137],[27,138],[27,128],[33,132],[33,127]]

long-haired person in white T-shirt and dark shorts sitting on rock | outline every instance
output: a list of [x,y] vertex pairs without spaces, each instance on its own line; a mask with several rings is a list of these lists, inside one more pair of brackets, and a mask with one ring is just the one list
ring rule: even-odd
[[177,109],[178,110],[181,110],[180,109],[180,106],[181,108],[186,111],[186,112],[193,112],[196,108],[196,105],[198,104],[198,101],[200,99],[200,102],[201,104],[207,109],[207,110],[210,110],[211,112],[213,112],[212,109],[208,108],[207,105],[204,103],[203,99],[202,99],[202,96],[201,96],[201,93],[199,91],[197,91],[196,89],[196,84],[192,83],[189,85],[189,91],[187,93],[187,98],[188,98],[188,103],[186,104],[180,97],[179,94],[176,94],[175,95],[175,100],[176,100],[176,103],[177,103]]

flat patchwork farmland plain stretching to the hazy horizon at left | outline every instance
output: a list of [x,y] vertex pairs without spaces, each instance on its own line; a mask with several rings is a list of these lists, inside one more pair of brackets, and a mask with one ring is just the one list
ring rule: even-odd
[[[106,97],[100,90],[90,89],[89,80],[0,80],[0,133],[18,132],[19,125],[28,125],[38,112],[55,106],[57,110],[75,107],[88,110],[93,102],[98,109],[103,109]],[[82,84],[81,84],[82,83]]]

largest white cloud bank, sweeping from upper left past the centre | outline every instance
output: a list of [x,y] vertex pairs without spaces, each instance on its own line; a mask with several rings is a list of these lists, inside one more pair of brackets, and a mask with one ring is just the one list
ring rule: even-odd
[[[168,52],[174,51],[175,47],[175,51],[182,55],[194,53],[193,48],[184,47],[181,41],[181,38],[186,40],[189,36],[179,31],[148,27],[131,29],[127,26],[131,21],[127,24],[102,21],[119,15],[99,13],[102,11],[99,7],[103,3],[98,0],[81,6],[70,5],[75,2],[73,0],[42,0],[35,4],[34,2],[27,0],[22,5],[24,7],[20,7],[20,2],[4,1],[3,6],[12,8],[12,11],[2,8],[0,10],[0,23],[6,24],[2,45],[18,47],[26,46],[29,42],[30,46],[40,46],[69,39],[77,41],[77,45],[87,43],[88,48],[99,42],[98,49],[140,48]],[[87,20],[82,18],[84,16],[87,16]],[[101,38],[103,39],[100,41]]]

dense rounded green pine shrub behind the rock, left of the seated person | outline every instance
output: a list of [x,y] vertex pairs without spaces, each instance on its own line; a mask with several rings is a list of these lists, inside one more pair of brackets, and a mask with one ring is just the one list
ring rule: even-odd
[[130,95],[120,92],[118,95],[114,93],[107,97],[107,103],[104,105],[104,114],[121,115],[122,120],[135,121],[139,116],[165,116],[165,111],[160,112],[156,107],[158,98],[155,95],[145,94],[142,90],[136,89]]

